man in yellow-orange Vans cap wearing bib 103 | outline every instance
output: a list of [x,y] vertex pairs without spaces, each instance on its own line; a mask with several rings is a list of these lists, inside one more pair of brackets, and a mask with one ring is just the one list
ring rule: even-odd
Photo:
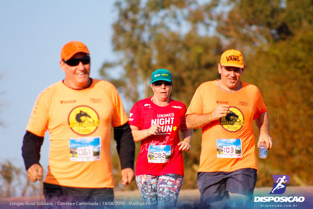
[[218,64],[221,79],[201,84],[186,112],[187,128],[202,128],[197,176],[201,203],[232,206],[239,199],[248,207],[258,169],[253,120],[260,129],[258,148],[262,141],[267,149],[273,144],[259,89],[240,81],[244,70],[241,53],[225,51]]

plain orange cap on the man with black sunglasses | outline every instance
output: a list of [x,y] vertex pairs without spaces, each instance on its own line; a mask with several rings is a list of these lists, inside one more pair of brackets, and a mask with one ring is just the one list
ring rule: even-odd
[[80,41],[70,41],[66,43],[61,49],[61,60],[69,60],[74,54],[78,52],[89,53],[89,50],[85,44]]

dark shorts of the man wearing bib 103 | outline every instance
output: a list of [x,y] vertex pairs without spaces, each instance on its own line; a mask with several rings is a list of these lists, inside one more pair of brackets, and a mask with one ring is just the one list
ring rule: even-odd
[[257,170],[243,168],[232,172],[198,172],[197,185],[201,203],[221,201],[228,197],[228,191],[252,198],[256,184]]

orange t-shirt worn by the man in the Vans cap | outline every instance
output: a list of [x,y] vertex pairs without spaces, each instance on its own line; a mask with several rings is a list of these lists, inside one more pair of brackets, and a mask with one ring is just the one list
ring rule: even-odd
[[229,105],[226,117],[215,120],[202,128],[202,151],[199,171],[230,172],[241,168],[257,167],[253,120],[267,109],[259,89],[242,83],[235,93],[221,91],[215,81],[201,84],[196,90],[186,116],[208,114],[215,107]]

